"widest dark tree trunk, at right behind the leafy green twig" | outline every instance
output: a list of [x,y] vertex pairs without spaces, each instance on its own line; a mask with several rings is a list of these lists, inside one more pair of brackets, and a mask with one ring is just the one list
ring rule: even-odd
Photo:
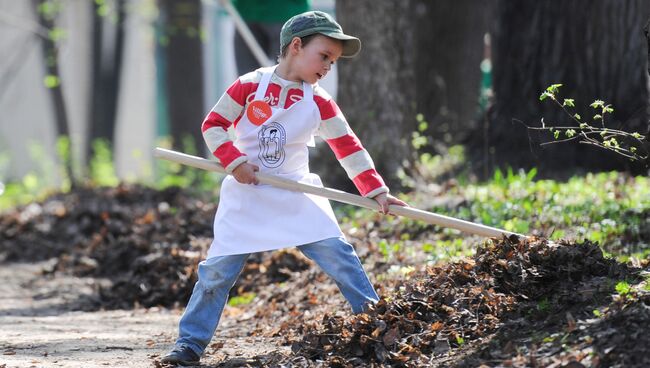
[[[570,123],[560,108],[540,102],[542,91],[562,83],[561,98],[575,99],[575,112],[591,121],[596,99],[611,103],[608,126],[648,130],[648,75],[643,25],[650,13],[645,0],[500,1],[494,32],[495,105],[487,119],[478,152],[482,165],[537,166],[544,174],[558,170],[640,170],[615,154],[579,144],[539,148],[516,122],[539,126]],[[479,161],[479,160],[477,160]]]

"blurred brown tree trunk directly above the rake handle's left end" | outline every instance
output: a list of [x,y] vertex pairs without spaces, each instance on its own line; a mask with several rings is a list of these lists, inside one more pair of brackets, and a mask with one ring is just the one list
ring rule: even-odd
[[[175,149],[203,152],[203,56],[200,0],[159,0],[167,40],[165,84],[170,134]],[[184,143],[192,138],[192,146]],[[201,149],[198,149],[201,147]]]

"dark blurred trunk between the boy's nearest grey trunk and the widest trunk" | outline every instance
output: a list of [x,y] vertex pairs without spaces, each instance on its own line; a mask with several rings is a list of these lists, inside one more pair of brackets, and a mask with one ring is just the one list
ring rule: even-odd
[[421,1],[416,13],[417,112],[435,142],[458,143],[479,114],[480,64],[494,2]]

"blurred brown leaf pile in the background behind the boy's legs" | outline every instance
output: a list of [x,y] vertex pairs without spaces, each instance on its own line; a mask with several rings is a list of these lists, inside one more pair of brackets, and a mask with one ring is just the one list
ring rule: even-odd
[[[108,279],[86,309],[182,305],[212,240],[216,202],[180,188],[78,188],[2,214],[0,261],[56,258],[49,272]],[[233,293],[307,266],[292,253],[252,256]]]

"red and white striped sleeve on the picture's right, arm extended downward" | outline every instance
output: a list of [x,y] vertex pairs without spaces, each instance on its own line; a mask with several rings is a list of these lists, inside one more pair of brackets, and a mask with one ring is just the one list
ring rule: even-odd
[[317,135],[330,146],[359,193],[371,198],[388,193],[388,187],[375,170],[372,158],[350,129],[336,102],[322,88],[317,87],[314,92],[321,116]]

